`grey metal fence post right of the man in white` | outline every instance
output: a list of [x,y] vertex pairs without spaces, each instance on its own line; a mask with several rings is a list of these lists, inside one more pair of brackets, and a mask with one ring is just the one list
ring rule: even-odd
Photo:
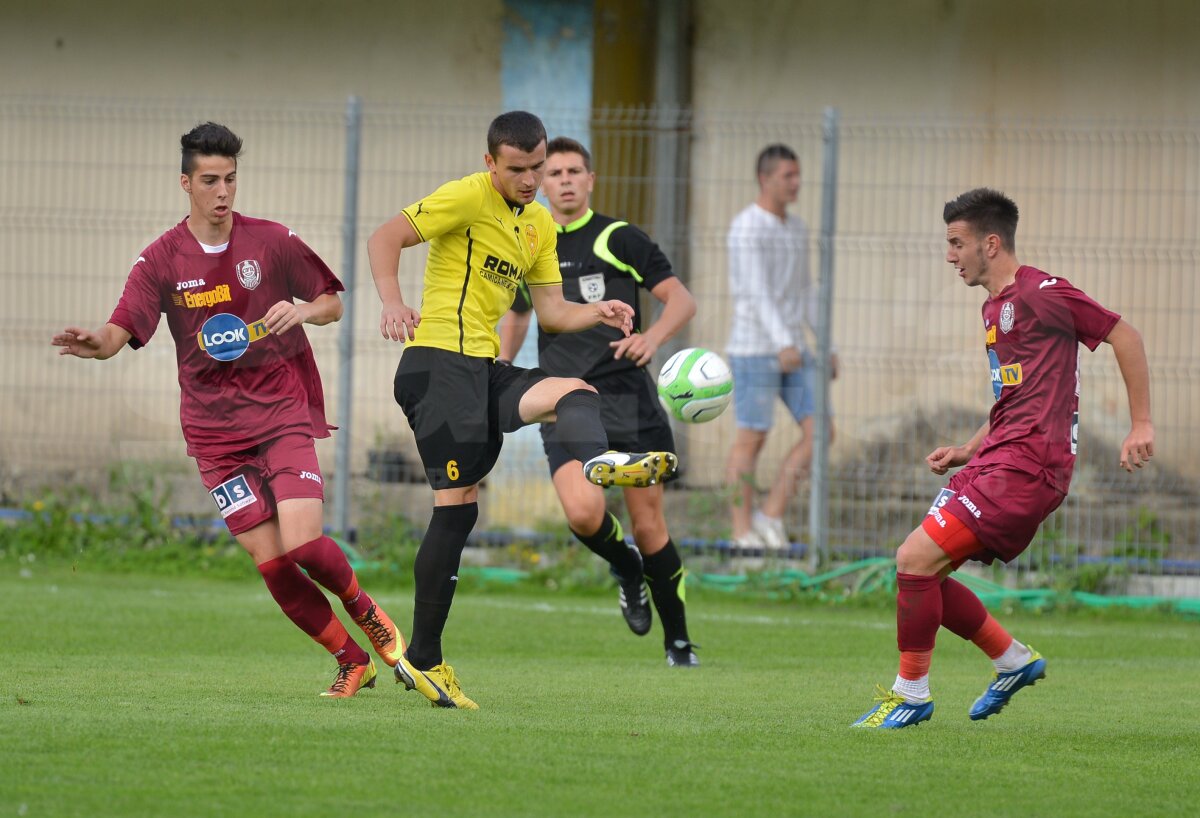
[[812,423],[812,471],[809,498],[809,564],[818,566],[829,554],[829,349],[833,345],[833,242],[838,234],[836,108],[824,109],[822,142],[824,168],[821,190],[821,272],[817,281],[816,413]]

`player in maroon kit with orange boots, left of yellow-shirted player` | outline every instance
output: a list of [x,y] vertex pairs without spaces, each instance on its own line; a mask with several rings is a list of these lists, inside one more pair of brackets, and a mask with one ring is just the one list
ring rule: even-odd
[[142,251],[104,326],[68,326],[52,343],[61,355],[109,359],[149,343],[167,313],[187,453],[283,613],[337,660],[322,696],[354,696],[374,686],[374,663],[313,581],[342,600],[389,666],[404,640],[323,534],[313,439],[331,427],[302,325],[340,319],[343,287],[292,230],[234,212],[241,139],[229,128],[198,125],[180,145],[190,215]]

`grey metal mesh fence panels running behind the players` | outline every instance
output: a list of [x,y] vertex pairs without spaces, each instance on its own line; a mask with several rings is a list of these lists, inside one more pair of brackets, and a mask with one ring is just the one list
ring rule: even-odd
[[[494,110],[367,108],[362,122],[359,263],[354,301],[352,522],[427,518],[412,434],[391,398],[400,348],[379,338],[366,237],[443,181],[482,169]],[[719,112],[545,112],[552,131],[590,142],[595,206],[642,224],[668,251],[698,301],[676,345],[722,350],[728,333],[725,235],[756,194],[754,160],[784,142],[804,174],[794,212],[812,230],[821,202],[818,115]],[[341,102],[282,107],[211,101],[0,98],[0,492],[12,505],[46,486],[103,491],[110,468],[179,475],[172,503],[208,512],[178,426],[173,350],[164,337],[103,365],[58,360],[49,336],[96,326],[130,261],[186,212],[173,178],[178,138],[224,121],[246,139],[238,209],[288,224],[331,266],[342,255],[346,121]],[[1151,357],[1159,456],[1117,469],[1128,410],[1108,347],[1082,354],[1080,459],[1070,498],[1012,571],[1084,572],[1120,560],[1135,577],[1182,575],[1166,587],[1200,595],[1196,513],[1200,378],[1190,330],[1200,312],[1200,127],[1081,121],[842,121],[832,389],[838,435],[830,542],[842,555],[886,554],[919,522],[943,479],[924,456],[961,443],[985,419],[990,386],[978,330],[983,294],[942,260],[942,204],[971,187],[1020,205],[1022,261],[1069,278],[1142,331]],[[679,169],[683,168],[683,172]],[[404,253],[401,284],[419,300],[424,248]],[[160,331],[162,336],[166,330]],[[329,407],[337,405],[337,329],[308,330]],[[527,343],[532,347],[533,341]],[[528,356],[528,350],[526,353]],[[665,360],[665,355],[660,354]],[[526,357],[528,360],[528,357]],[[515,435],[482,492],[482,525],[565,531],[532,431]],[[728,535],[722,482],[732,411],[678,429],[686,479],[668,492],[677,541]],[[780,408],[758,482],[773,480],[798,439]],[[332,447],[319,446],[326,474]],[[154,464],[146,467],[144,464]],[[806,493],[788,510],[806,531]],[[1111,577],[1111,575],[1110,575]]]

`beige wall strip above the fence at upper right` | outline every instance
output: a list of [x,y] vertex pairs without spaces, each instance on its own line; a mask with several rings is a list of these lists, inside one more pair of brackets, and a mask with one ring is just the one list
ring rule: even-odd
[[1192,0],[696,4],[701,109],[1195,120]]

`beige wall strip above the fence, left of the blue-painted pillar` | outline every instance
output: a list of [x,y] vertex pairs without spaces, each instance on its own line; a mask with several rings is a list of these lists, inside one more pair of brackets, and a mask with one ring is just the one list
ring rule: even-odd
[[5,94],[487,104],[500,0],[5,4]]

